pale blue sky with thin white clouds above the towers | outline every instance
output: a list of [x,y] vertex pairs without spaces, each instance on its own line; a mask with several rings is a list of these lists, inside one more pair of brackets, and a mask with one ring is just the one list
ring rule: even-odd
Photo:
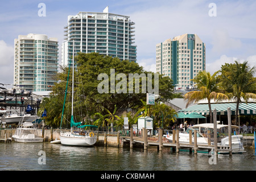
[[[234,60],[256,65],[256,1],[214,0],[0,0],[0,83],[13,86],[14,39],[45,34],[57,38],[59,52],[68,15],[80,11],[130,16],[135,22],[137,63],[156,71],[155,45],[183,34],[197,34],[206,47],[206,71]],[[45,16],[40,3],[46,5]],[[59,54],[59,60],[61,56]],[[59,61],[60,63],[60,61]]]

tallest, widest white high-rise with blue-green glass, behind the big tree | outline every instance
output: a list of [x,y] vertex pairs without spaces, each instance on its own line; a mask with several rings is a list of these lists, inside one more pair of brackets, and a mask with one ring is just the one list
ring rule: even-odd
[[61,45],[61,65],[71,61],[73,40],[75,53],[98,52],[120,60],[136,61],[134,24],[129,16],[109,13],[108,7],[103,13],[79,12],[68,16]]

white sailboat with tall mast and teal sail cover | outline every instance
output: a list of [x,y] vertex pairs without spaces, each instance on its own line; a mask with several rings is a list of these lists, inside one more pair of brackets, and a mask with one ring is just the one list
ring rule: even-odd
[[[73,42],[74,47],[74,42]],[[69,65],[70,68],[70,65]],[[69,77],[69,72],[68,72]],[[67,95],[68,81],[65,90],[65,97]],[[97,137],[93,132],[86,133],[82,130],[85,127],[97,127],[94,125],[82,125],[82,122],[75,122],[73,117],[73,100],[74,100],[74,51],[73,51],[73,72],[72,72],[72,111],[71,111],[71,130],[60,132],[60,143],[66,146],[93,146],[96,143]],[[64,98],[65,105],[65,98]],[[64,111],[63,105],[63,111]],[[63,120],[63,113],[61,115],[61,123]],[[61,126],[60,126],[61,127]],[[75,130],[77,128],[77,130]]]

